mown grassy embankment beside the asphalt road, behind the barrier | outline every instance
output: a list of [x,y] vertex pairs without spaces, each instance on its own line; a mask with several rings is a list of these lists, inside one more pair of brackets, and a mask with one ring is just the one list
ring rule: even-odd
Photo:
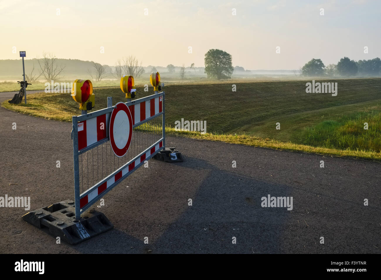
[[[381,79],[319,82],[337,82],[337,96],[306,93],[306,81],[241,82],[235,83],[236,91],[232,91],[232,82],[165,86],[168,133],[251,143],[255,146],[381,159]],[[149,92],[145,92],[142,86],[136,88],[139,98],[153,94],[151,86]],[[94,89],[94,94],[94,109],[106,107],[107,96],[113,97],[114,104],[126,101],[119,88]],[[67,122],[71,122],[72,115],[80,114],[78,104],[70,93],[31,94],[27,102],[27,105],[3,102],[2,106]],[[206,120],[208,134],[202,136],[174,131],[175,121],[181,121],[182,118],[189,121]],[[365,122],[368,123],[368,130],[364,130]],[[280,123],[280,130],[276,129],[276,123]],[[319,147],[320,150],[311,147]],[[353,151],[357,151],[357,154]]]

